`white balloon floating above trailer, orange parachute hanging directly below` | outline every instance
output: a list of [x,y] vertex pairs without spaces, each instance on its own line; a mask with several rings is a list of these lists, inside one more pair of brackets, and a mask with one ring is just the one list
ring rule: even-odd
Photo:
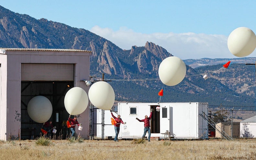
[[179,57],[167,57],[159,65],[158,74],[163,84],[177,85],[186,75],[186,65]]

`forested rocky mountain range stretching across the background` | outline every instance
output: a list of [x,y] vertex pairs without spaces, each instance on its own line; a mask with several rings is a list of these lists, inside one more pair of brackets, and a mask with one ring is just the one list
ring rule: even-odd
[[[235,68],[235,64],[255,63],[254,57],[184,60],[187,67],[184,80],[178,85],[166,86],[159,80],[158,67],[163,59],[179,55],[172,55],[153,42],[123,50],[86,29],[74,28],[45,18],[37,20],[29,15],[9,11],[2,6],[0,45],[2,48],[90,50],[90,75],[93,79],[101,79],[102,74],[105,74],[106,79],[112,79],[109,83],[115,91],[116,100],[120,101],[158,102],[157,93],[164,88],[161,102],[193,100],[219,105],[255,104],[255,76],[251,74],[255,72],[255,68]],[[234,66],[237,69],[236,74],[232,73],[232,69],[220,70],[214,74],[211,72],[217,71],[230,60],[230,68]],[[209,75],[207,80],[203,78],[205,74]],[[133,81],[134,79],[139,80]],[[224,93],[225,97],[216,97]]]

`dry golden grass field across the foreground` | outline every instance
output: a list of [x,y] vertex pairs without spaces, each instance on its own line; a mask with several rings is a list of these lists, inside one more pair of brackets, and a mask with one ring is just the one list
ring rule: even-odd
[[145,141],[135,140],[37,140],[0,141],[1,159],[17,160],[252,160],[256,159],[256,139]]

